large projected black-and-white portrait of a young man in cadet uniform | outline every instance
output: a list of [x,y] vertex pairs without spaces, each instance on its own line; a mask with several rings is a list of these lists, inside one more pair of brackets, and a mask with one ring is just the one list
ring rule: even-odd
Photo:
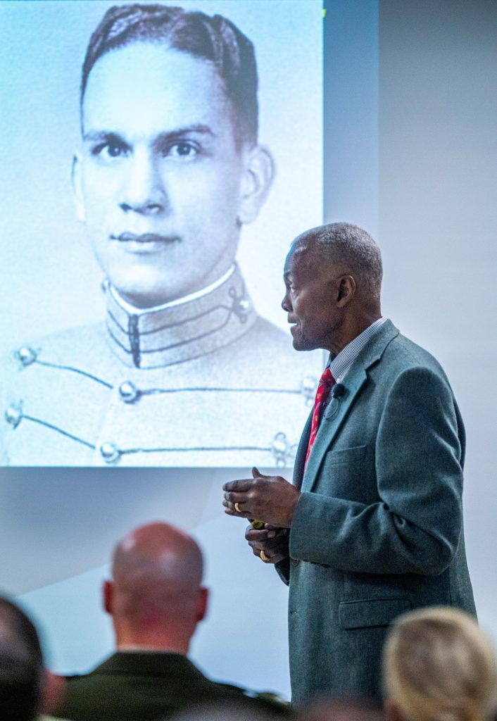
[[[320,2],[4,2],[0,462],[291,466]],[[312,132],[309,132],[312,128]]]

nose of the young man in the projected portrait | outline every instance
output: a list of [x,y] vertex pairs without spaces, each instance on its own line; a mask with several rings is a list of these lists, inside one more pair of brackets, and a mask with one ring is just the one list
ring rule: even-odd
[[158,215],[167,208],[167,195],[154,157],[137,150],[123,168],[119,206],[125,213]]

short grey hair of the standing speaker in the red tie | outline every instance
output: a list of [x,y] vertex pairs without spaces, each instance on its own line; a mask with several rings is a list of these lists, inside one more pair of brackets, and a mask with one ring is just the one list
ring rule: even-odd
[[295,244],[307,247],[309,241],[320,257],[343,266],[359,286],[366,288],[371,298],[379,300],[382,254],[369,233],[351,223],[329,223],[302,233]]

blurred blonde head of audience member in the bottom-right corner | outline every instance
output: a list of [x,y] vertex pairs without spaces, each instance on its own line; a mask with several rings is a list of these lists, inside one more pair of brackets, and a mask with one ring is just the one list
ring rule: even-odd
[[496,709],[491,642],[463,611],[432,607],[400,616],[384,647],[389,721],[485,721]]

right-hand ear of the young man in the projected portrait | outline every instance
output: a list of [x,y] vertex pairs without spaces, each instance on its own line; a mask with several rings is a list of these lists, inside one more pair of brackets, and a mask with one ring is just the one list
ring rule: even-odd
[[273,182],[275,166],[273,156],[261,145],[245,151],[245,169],[240,185],[240,203],[237,220],[240,225],[252,223],[268,196]]

